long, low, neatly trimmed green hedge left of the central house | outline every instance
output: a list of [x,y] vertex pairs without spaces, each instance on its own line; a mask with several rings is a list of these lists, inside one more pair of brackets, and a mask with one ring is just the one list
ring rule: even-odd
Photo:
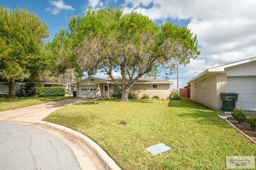
[[62,87],[41,87],[38,91],[39,97],[65,96],[65,89]]

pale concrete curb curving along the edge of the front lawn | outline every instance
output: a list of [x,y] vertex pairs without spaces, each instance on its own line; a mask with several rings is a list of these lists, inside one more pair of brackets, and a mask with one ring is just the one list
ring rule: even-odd
[[82,133],[79,133],[78,131],[75,131],[68,127],[64,127],[62,125],[57,125],[57,124],[49,123],[46,121],[40,121],[39,124],[50,126],[60,131],[64,131],[64,132],[70,133],[71,135],[74,135],[75,137],[82,140],[85,143],[85,145],[87,145],[94,152],[94,154],[96,154],[96,156],[100,159],[100,162],[102,163],[104,168],[106,168],[107,170],[122,170],[116,164],[116,162],[114,162],[114,160],[112,160],[112,158],[110,158],[110,156],[98,144],[96,144],[94,141],[92,141],[92,139],[88,138]]

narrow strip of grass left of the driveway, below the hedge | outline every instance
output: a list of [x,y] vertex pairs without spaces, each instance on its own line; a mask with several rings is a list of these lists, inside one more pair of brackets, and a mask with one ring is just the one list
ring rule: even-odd
[[18,109],[20,107],[33,106],[37,104],[43,104],[48,102],[55,102],[58,100],[66,100],[74,97],[23,97],[16,99],[6,99],[4,95],[0,97],[0,111]]

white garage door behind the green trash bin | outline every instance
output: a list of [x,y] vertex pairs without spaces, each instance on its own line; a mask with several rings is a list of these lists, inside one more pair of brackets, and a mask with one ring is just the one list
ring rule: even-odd
[[256,111],[256,77],[228,77],[228,92],[238,93],[237,108]]

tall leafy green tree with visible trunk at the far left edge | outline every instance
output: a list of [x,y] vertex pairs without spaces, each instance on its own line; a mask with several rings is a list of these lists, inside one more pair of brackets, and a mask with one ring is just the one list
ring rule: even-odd
[[50,32],[36,14],[27,9],[0,6],[0,77],[7,79],[7,98],[15,98],[14,81],[24,76],[39,78],[47,68],[43,39]]

